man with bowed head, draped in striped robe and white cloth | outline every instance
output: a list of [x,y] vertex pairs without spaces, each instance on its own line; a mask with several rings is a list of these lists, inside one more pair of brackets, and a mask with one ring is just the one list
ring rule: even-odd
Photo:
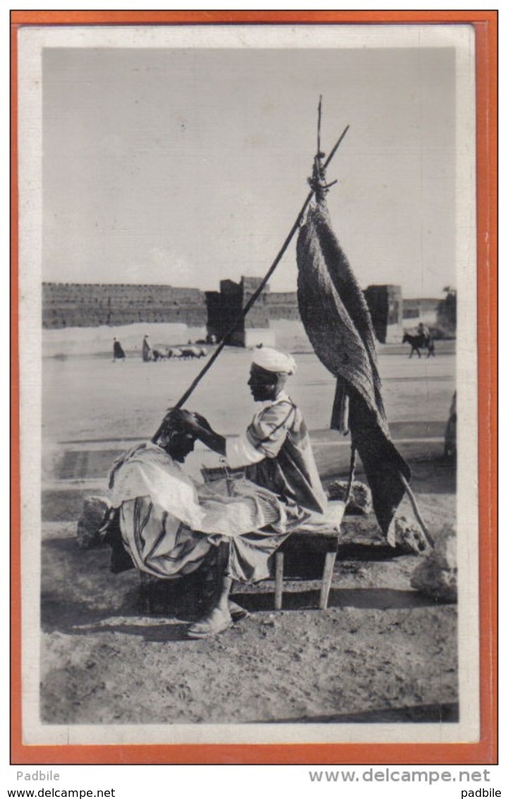
[[138,569],[159,578],[191,574],[219,547],[217,595],[203,622],[188,630],[191,638],[203,638],[231,626],[233,580],[268,577],[268,559],[288,532],[285,507],[270,491],[246,479],[205,486],[183,471],[180,463],[195,442],[189,417],[170,411],[155,443],[133,447],[116,461],[109,488],[124,547]]

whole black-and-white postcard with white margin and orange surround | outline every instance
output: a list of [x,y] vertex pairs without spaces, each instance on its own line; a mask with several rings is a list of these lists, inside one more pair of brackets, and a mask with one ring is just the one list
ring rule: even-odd
[[52,14],[14,26],[13,761],[493,762],[492,37]]

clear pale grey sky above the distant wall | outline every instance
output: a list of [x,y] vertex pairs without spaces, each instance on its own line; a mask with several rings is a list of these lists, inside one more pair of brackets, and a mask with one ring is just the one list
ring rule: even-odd
[[[43,280],[219,288],[262,276],[321,148],[360,285],[455,281],[451,47],[49,47]],[[270,287],[296,289],[294,243]]]

